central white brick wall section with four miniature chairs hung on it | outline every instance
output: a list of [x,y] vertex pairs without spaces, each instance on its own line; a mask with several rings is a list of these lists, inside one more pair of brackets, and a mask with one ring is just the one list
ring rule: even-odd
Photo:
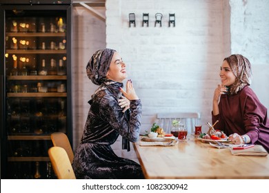
[[[220,2],[107,1],[107,47],[118,50],[127,63],[143,104],[142,131],[158,112],[198,111],[203,122],[211,120],[223,59]],[[130,12],[136,14],[136,28],[129,28]],[[148,28],[141,27],[143,12],[150,14]],[[157,12],[163,14],[162,28],[154,27]],[[169,13],[176,15],[175,28],[168,28]]]

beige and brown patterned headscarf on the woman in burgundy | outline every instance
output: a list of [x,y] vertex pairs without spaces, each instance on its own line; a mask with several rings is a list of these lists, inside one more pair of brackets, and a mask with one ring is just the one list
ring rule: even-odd
[[235,83],[230,85],[230,94],[237,94],[246,85],[251,83],[251,65],[250,61],[241,54],[232,54],[230,57],[225,58],[223,61],[227,61],[232,73],[235,74]]

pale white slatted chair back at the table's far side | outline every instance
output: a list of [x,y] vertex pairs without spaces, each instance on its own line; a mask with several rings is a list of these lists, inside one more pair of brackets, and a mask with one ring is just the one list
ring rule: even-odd
[[172,121],[177,120],[184,123],[188,133],[195,131],[195,124],[198,119],[200,119],[199,112],[173,112],[173,113],[159,113],[157,114],[157,123],[163,130],[170,133],[172,128]]

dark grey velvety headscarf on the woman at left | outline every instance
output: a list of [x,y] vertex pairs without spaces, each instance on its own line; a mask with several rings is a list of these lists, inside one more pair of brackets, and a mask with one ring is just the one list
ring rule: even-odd
[[92,83],[101,85],[101,83],[106,81],[106,73],[108,72],[114,52],[116,50],[106,48],[97,50],[92,55],[86,67],[87,75],[92,80]]

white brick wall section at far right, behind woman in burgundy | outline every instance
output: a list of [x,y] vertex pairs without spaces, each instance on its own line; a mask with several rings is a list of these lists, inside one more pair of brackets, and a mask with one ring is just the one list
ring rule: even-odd
[[269,108],[269,1],[230,0],[231,50],[252,64],[252,89]]

